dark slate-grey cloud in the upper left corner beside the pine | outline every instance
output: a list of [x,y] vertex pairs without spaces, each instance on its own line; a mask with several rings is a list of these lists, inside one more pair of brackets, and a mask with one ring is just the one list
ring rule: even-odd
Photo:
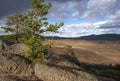
[[1,0],[0,19],[17,12],[24,12],[29,8],[29,3],[30,0]]

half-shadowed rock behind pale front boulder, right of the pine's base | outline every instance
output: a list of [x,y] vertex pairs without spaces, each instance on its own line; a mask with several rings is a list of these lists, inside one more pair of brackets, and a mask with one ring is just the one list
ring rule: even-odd
[[70,55],[63,55],[63,56],[58,56],[58,55],[49,55],[47,58],[47,62],[57,65],[57,66],[65,66],[65,67],[71,67],[71,68],[77,68],[80,69],[80,67],[75,64],[75,61],[72,61],[73,58]]

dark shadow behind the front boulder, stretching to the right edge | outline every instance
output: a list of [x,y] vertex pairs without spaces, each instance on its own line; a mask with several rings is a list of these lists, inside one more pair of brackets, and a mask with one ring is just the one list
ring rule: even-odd
[[[63,59],[61,59],[61,58],[63,58]],[[103,81],[103,80],[101,80],[103,78],[104,78],[104,81],[119,81],[120,80],[120,65],[119,64],[106,65],[106,64],[89,64],[89,63],[83,63],[83,62],[81,63],[77,60],[76,57],[73,57],[71,55],[59,55],[59,57],[50,55],[50,58],[48,57],[47,59],[50,59],[50,64],[48,64],[48,66],[61,68],[63,70],[69,71],[70,73],[73,73],[73,74],[75,74],[75,73],[72,70],[75,69],[78,71],[84,71],[84,72],[93,74],[94,76],[97,77],[98,81]],[[57,65],[64,59],[77,65],[79,68],[72,68],[72,67]]]

